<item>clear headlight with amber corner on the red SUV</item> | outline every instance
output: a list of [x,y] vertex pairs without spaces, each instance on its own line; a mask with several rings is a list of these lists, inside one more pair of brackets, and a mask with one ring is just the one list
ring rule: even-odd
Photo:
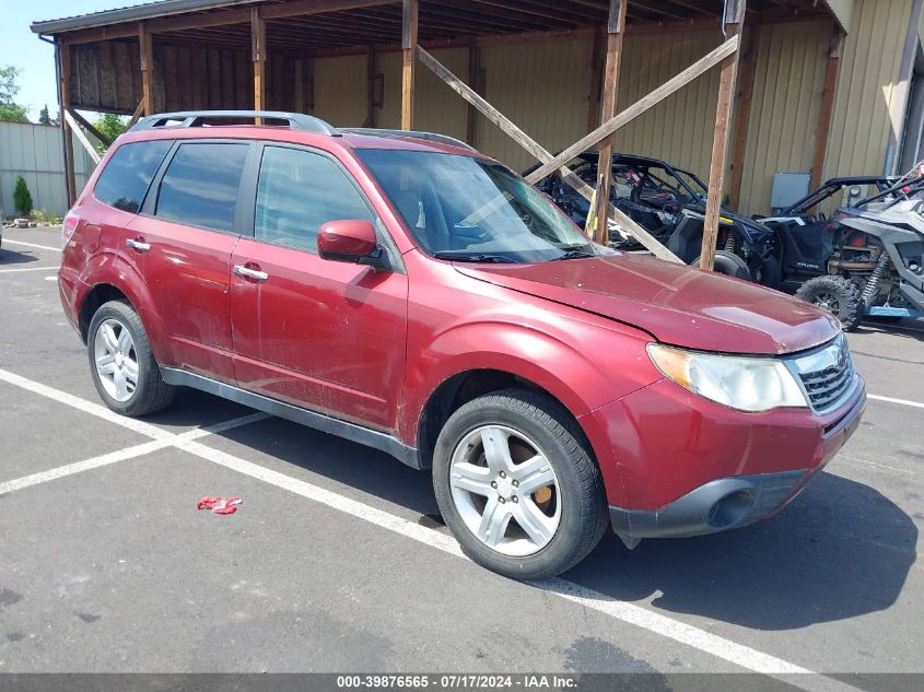
[[648,344],[648,356],[678,385],[733,409],[808,407],[795,376],[775,359],[698,353],[658,343]]

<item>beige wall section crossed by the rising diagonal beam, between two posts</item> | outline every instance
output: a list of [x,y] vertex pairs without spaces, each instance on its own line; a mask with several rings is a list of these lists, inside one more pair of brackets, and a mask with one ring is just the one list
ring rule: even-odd
[[[690,67],[721,40],[718,32],[628,35],[617,110]],[[718,70],[714,68],[619,130],[616,151],[664,159],[704,178],[717,94]]]

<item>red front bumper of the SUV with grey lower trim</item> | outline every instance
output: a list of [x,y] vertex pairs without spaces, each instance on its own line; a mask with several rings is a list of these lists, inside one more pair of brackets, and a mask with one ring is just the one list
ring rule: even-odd
[[[823,417],[741,413],[677,389],[656,384],[599,419],[613,454],[601,465],[610,521],[623,539],[702,536],[775,514],[843,447],[866,407],[862,378]],[[675,406],[682,415],[670,415]]]

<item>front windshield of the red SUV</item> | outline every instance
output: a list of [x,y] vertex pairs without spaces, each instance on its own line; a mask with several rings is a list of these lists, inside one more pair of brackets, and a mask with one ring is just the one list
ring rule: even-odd
[[540,262],[597,254],[558,207],[500,164],[422,151],[356,153],[429,255]]

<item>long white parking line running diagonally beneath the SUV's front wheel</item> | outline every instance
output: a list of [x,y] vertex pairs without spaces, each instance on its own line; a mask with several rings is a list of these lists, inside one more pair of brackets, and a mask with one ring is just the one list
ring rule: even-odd
[[[60,403],[66,403],[67,406],[93,413],[94,415],[104,418],[117,425],[138,430],[134,426],[138,421],[132,421],[131,419],[125,419],[115,414],[112,417],[101,415],[98,409],[103,407],[89,401],[83,401],[79,397],[59,391],[52,387],[21,377],[20,375],[0,370],[0,379],[17,387],[22,387],[23,389],[27,389],[28,391],[48,397],[49,399]],[[108,409],[103,410],[108,411]],[[233,469],[239,473],[249,476],[250,478],[261,480],[266,483],[276,485],[277,488],[281,488],[303,497],[313,500],[314,502],[321,503],[328,507],[343,512],[364,521],[369,521],[370,524],[389,531],[394,531],[395,533],[399,533],[425,546],[430,546],[431,548],[435,548],[442,552],[456,558],[466,559],[458,543],[447,533],[425,528],[414,521],[371,507],[356,500],[352,500],[351,497],[335,493],[306,481],[291,478],[284,473],[272,471],[225,451],[208,447],[199,442],[196,442],[196,436],[191,433],[197,431],[191,431],[191,433],[185,433],[183,435],[173,435],[172,433],[148,425],[147,423],[143,425],[156,431],[156,435],[150,435],[155,437],[154,444],[175,446],[184,451],[196,455],[208,461],[212,461],[213,464]],[[796,666],[781,658],[776,658],[775,656],[750,648],[749,646],[737,644],[736,642],[712,634],[705,630],[701,630],[679,620],[654,612],[648,608],[643,608],[634,603],[611,598],[605,594],[585,588],[566,579],[546,579],[543,582],[534,583],[534,585],[546,593],[554,594],[566,600],[580,603],[585,608],[590,608],[597,612],[607,614],[615,620],[620,620],[648,630],[650,632],[668,637],[675,642],[679,642],[692,648],[711,654],[716,658],[726,660],[746,670],[779,678],[788,684],[799,687],[804,690],[808,690],[809,692],[859,692],[857,688],[842,683],[832,678],[815,673],[807,668]]]

